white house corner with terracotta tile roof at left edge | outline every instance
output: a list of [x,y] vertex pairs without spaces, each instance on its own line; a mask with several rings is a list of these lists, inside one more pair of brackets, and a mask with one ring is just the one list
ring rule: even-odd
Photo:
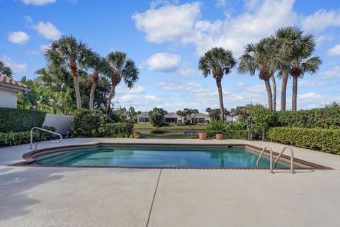
[[30,92],[26,84],[0,74],[0,107],[17,107],[18,92]]

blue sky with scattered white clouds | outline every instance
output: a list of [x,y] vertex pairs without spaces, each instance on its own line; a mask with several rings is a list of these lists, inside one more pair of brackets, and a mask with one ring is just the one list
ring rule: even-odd
[[[217,46],[238,59],[246,43],[296,26],[314,35],[314,55],[323,60],[317,74],[299,80],[297,109],[340,102],[339,1],[0,0],[0,12],[0,59],[15,79],[37,77],[51,40],[74,35],[104,57],[120,50],[136,62],[140,79],[132,89],[120,84],[113,102],[140,111],[219,108],[215,80],[199,72],[199,57]],[[276,82],[279,109],[280,79]],[[288,109],[292,83],[289,79]],[[234,67],[222,89],[227,109],[267,105],[258,74],[240,75]]]

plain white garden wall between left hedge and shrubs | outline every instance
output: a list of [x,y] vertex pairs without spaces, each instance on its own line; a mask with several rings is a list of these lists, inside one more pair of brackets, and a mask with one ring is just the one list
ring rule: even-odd
[[46,114],[45,121],[42,126],[53,126],[55,132],[62,135],[66,135],[67,132],[71,132],[71,120],[73,116]]

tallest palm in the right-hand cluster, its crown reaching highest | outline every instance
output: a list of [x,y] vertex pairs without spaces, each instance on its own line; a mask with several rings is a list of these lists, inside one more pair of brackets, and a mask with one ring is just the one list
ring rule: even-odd
[[[285,28],[280,28],[276,31],[276,40],[280,45],[281,57],[288,60],[288,64],[293,60],[293,52],[300,45],[300,40],[302,37],[302,31],[299,28],[293,26],[288,26]],[[281,70],[280,77],[282,79],[281,87],[281,104],[280,110],[285,111],[286,109],[286,96],[287,96],[287,84],[288,77],[290,74],[290,67],[286,67],[285,70]]]

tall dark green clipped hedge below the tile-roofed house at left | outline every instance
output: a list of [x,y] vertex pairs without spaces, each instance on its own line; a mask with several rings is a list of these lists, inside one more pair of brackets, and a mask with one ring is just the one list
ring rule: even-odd
[[30,131],[40,127],[45,121],[46,113],[28,109],[0,108],[0,133]]

